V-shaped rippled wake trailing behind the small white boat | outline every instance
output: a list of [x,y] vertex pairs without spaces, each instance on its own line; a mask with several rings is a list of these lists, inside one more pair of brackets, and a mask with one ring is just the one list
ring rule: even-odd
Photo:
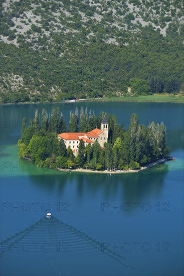
[[[126,268],[135,269],[132,266],[126,265],[124,263],[125,258],[120,254],[111,251],[103,243],[55,217],[44,217],[30,227],[2,241],[0,243],[1,257],[8,252],[12,252],[12,248],[16,245],[18,246],[20,242],[24,242],[24,244],[31,242],[38,244],[43,240],[47,240],[47,243],[50,245],[55,245],[55,247],[52,246],[52,249],[56,249],[57,252],[60,252],[60,249],[62,249],[62,251],[68,250],[68,252],[74,254],[80,254],[80,252],[85,254],[103,254],[119,262]],[[63,243],[63,241],[65,242]],[[61,246],[62,248],[60,248]]]

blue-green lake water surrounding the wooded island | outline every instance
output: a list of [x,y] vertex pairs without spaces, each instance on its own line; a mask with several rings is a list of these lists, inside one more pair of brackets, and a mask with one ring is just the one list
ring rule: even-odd
[[[57,105],[66,120],[75,107]],[[182,275],[183,105],[83,105],[116,113],[125,126],[132,112],[144,123],[164,121],[175,161],[111,176],[36,168],[18,159],[19,122],[53,105],[1,106],[1,241],[10,238],[1,274]],[[47,211],[55,219],[40,223]]]

